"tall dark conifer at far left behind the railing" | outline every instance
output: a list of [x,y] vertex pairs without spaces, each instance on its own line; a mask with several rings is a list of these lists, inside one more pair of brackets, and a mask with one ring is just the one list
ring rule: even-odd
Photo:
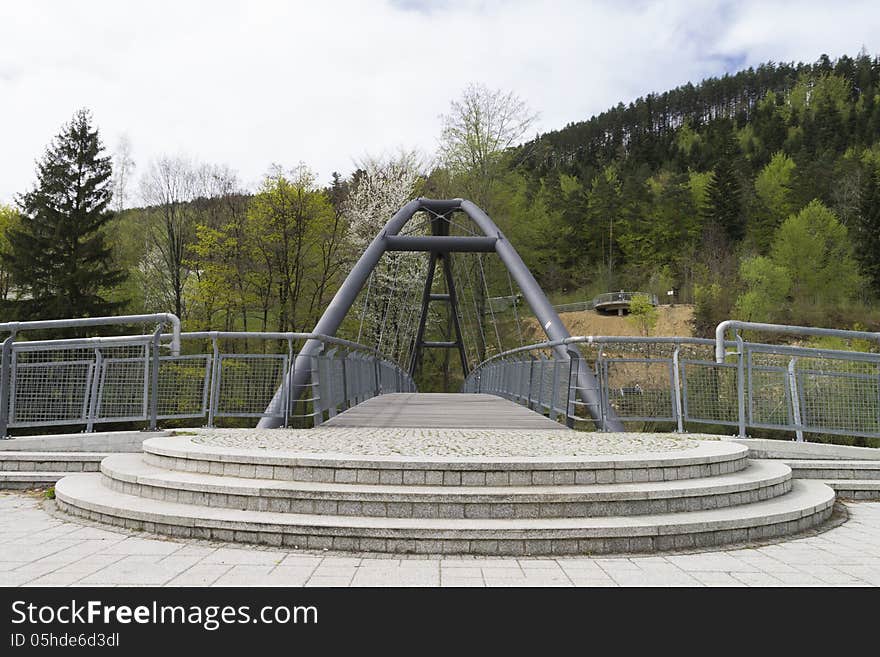
[[122,305],[103,296],[125,273],[113,266],[104,242],[113,217],[112,167],[91,119],[85,109],[74,114],[38,163],[33,191],[17,199],[21,221],[7,232],[3,254],[16,288],[9,308],[16,318],[95,317]]

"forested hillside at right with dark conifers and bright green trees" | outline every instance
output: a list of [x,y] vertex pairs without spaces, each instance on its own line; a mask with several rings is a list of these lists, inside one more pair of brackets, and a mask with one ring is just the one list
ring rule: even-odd
[[511,161],[560,236],[531,254],[548,287],[675,288],[698,332],[726,317],[876,323],[880,57],[652,93]]

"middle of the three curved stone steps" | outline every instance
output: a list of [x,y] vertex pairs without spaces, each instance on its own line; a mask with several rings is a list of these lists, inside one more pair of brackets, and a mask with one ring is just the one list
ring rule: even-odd
[[136,454],[101,464],[112,490],[250,511],[397,518],[564,518],[699,511],[771,499],[791,488],[783,463],[705,479],[571,486],[330,484],[163,470]]

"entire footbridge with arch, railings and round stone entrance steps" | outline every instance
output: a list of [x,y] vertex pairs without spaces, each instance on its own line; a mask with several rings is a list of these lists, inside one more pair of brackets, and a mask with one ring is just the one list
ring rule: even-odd
[[[501,296],[530,315],[497,308]],[[715,339],[571,336],[513,245],[461,199],[401,208],[308,333],[185,332],[168,314],[0,331],[3,436],[153,431],[127,434],[133,450],[111,435],[97,456],[29,455],[53,439],[16,437],[0,466],[57,480],[69,515],[148,532],[393,553],[655,552],[777,539],[824,523],[838,493],[880,494],[877,461],[852,460],[865,451],[834,446],[846,454],[828,452],[833,469],[804,458],[822,453],[804,446],[811,435],[880,438],[880,354],[754,338],[880,334],[728,321]],[[438,378],[460,391],[418,391]],[[718,435],[754,430],[795,438],[794,460]]]

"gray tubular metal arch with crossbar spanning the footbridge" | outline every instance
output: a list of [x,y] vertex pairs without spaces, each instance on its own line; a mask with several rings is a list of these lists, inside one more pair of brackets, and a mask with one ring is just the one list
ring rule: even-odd
[[[484,237],[443,235],[437,234],[437,230],[434,230],[434,234],[431,236],[399,236],[400,231],[407,222],[420,210],[431,212],[435,217],[448,217],[454,212],[464,212],[479,227]],[[398,210],[364,250],[364,253],[351,272],[349,272],[345,281],[343,281],[312,332],[330,336],[336,335],[336,331],[354,304],[358,293],[366,284],[370,273],[376,267],[379,259],[386,251],[397,250],[429,252],[432,254],[432,262],[439,256],[443,258],[444,266],[448,263],[448,257],[444,256],[448,256],[452,252],[494,251],[507,267],[513,280],[516,281],[516,284],[523,293],[523,298],[541,323],[548,340],[556,342],[571,337],[568,329],[565,328],[559,315],[556,314],[553,306],[550,305],[550,301],[544,295],[535,277],[532,276],[522,258],[516,252],[516,249],[513,248],[513,245],[504,237],[501,230],[483,210],[471,201],[460,198],[445,200],[418,198],[410,201]],[[429,271],[429,276],[431,275],[432,270]],[[426,289],[428,288],[426,287]],[[424,311],[423,303],[423,313]],[[424,320],[424,317],[422,317],[422,320]],[[574,345],[554,347],[557,355],[564,359],[571,358],[572,356],[579,357],[579,353],[570,353],[570,351],[576,349]],[[291,390],[304,390],[304,386],[308,384],[308,377],[311,371],[311,359],[320,350],[321,343],[317,340],[309,340],[303,345],[302,350],[294,361],[293,368],[287,374]],[[466,370],[467,365],[464,361],[463,365]],[[589,371],[589,368],[578,366],[577,387],[579,396],[589,410],[590,415],[600,424],[601,429],[623,431],[623,425],[616,417],[606,416],[604,419],[602,418],[600,413],[601,397],[599,384]],[[301,394],[301,392],[294,394]],[[278,406],[281,403],[282,395],[279,390],[267,409],[267,415],[272,415],[272,417],[261,419],[258,425],[260,428],[280,426],[281,420],[276,416],[280,415]]]

